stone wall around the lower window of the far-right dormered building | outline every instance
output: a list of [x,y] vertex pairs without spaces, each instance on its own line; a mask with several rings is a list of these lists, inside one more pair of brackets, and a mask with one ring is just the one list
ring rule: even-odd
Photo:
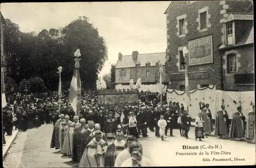
[[244,45],[234,49],[223,52],[223,82],[224,90],[240,90],[253,91],[254,85],[236,85],[234,81],[234,74],[227,74],[227,55],[237,55],[237,73],[235,74],[250,74],[254,73],[254,47],[251,45]]

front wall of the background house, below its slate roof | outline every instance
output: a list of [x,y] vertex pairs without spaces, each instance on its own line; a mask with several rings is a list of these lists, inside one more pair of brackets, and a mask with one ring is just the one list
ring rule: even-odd
[[[163,73],[162,73],[162,81],[166,81],[166,74],[165,74],[165,66],[162,65],[163,67]],[[126,76],[125,77],[119,77],[119,70],[125,69],[126,70]],[[115,69],[115,83],[129,83],[131,79],[136,83],[137,81],[137,76],[136,76],[136,71],[139,71],[141,73],[141,82],[155,82],[155,73],[156,70],[159,70],[156,68],[156,66],[150,66],[150,68],[146,69],[145,66],[141,66],[138,69],[136,67],[131,67],[131,68],[116,68]],[[146,77],[144,72],[150,71],[150,77]]]

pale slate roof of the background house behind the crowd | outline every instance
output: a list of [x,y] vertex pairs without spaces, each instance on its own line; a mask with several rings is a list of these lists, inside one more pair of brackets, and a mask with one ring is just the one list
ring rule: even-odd
[[136,63],[139,62],[140,66],[146,66],[146,62],[150,62],[151,66],[155,66],[156,62],[160,61],[162,65],[166,61],[166,53],[149,53],[149,54],[138,54],[138,60],[133,60],[133,55],[122,56],[121,60],[116,63],[116,68],[127,68],[135,67]]

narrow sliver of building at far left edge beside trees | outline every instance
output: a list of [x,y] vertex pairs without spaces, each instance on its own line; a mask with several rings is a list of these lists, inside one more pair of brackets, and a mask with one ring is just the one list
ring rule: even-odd
[[4,51],[4,24],[5,18],[3,17],[2,13],[0,24],[1,24],[1,91],[2,93],[5,92],[5,51]]

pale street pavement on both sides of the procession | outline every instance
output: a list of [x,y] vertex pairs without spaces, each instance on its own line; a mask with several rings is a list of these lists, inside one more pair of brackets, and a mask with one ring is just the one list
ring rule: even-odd
[[[19,132],[14,144],[4,159],[6,168],[23,167],[73,167],[71,158],[62,156],[57,150],[50,148],[53,125],[45,124],[38,129]],[[169,133],[168,133],[169,134]],[[148,137],[139,140],[143,146],[143,156],[150,159],[155,166],[185,166],[185,165],[249,165],[255,163],[255,145],[246,141],[231,141],[208,136],[203,141],[195,140],[195,129],[189,131],[189,139],[181,137],[179,130],[174,130],[174,137],[164,137],[165,141],[155,136],[155,132],[148,132]],[[198,146],[199,149],[183,150],[182,146]],[[201,150],[201,146],[219,145],[221,149]],[[226,151],[231,155],[199,155],[200,151]],[[176,152],[197,152],[197,155],[176,155]],[[245,161],[202,161],[203,158],[245,158]]]

